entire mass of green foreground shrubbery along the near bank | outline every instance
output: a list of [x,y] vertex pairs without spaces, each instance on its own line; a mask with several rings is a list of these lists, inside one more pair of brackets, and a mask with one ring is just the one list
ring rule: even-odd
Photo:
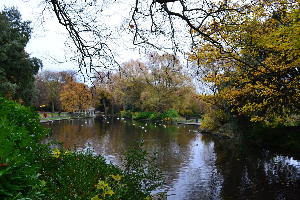
[[90,149],[40,144],[47,130],[39,120],[33,109],[0,97],[1,200],[149,199],[161,185],[156,152],[148,156],[143,143],[135,141],[124,153],[122,171]]

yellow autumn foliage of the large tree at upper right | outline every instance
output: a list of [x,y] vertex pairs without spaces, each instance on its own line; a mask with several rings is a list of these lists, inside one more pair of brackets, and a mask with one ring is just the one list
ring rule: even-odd
[[[228,4],[238,8],[238,3]],[[248,12],[247,12],[248,11]],[[190,61],[199,66],[209,95],[232,112],[262,121],[300,109],[300,3],[259,1],[203,25]]]

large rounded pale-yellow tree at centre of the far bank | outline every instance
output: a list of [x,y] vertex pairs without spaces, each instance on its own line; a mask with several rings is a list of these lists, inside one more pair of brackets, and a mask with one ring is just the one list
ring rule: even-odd
[[187,104],[182,102],[189,102],[186,94],[195,88],[190,76],[184,74],[179,60],[172,55],[152,53],[148,55],[145,66],[144,81],[148,89],[141,94],[143,109],[156,112],[185,109]]

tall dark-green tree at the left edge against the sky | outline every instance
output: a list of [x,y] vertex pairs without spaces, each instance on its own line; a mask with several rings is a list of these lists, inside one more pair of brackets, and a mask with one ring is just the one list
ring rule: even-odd
[[40,59],[25,52],[32,34],[31,22],[22,22],[20,12],[14,7],[4,7],[0,21],[0,93],[7,99],[30,105],[35,96],[34,75],[43,66]]

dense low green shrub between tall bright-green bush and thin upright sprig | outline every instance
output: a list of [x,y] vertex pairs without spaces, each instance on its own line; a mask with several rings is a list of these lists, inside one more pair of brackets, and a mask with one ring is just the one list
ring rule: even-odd
[[41,177],[46,180],[45,199],[91,199],[99,194],[95,190],[98,180],[105,180],[111,174],[123,172],[113,163],[107,163],[103,156],[95,155],[90,148],[73,152],[66,150],[61,142],[51,142],[60,147],[50,149],[41,145],[37,160],[42,164]]

